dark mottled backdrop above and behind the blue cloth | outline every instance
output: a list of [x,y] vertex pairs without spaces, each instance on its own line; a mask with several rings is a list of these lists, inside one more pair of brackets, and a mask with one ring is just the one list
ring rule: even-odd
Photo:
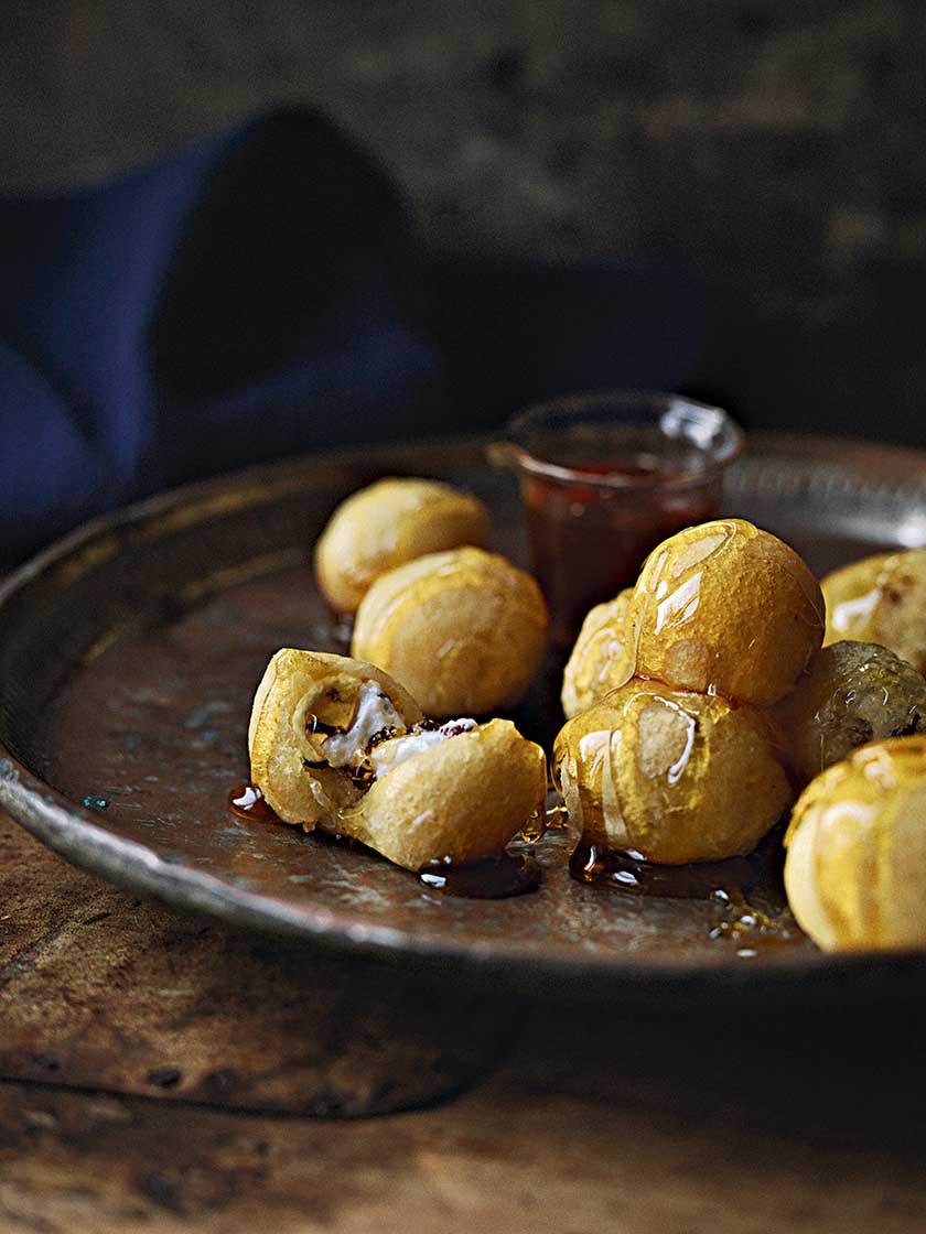
[[307,102],[431,252],[684,269],[711,288],[689,391],[926,444],[920,0],[60,0],[0,23],[0,190]]

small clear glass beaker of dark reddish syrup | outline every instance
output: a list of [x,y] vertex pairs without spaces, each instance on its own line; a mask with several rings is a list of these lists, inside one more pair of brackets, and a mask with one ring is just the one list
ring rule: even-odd
[[520,478],[531,565],[558,642],[631,586],[667,536],[717,516],[724,469],[742,444],[720,407],[656,391],[573,395],[509,421],[489,458]]

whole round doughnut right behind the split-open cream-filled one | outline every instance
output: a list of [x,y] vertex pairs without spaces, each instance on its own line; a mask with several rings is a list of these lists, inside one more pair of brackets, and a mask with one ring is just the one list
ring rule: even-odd
[[382,575],[357,611],[352,654],[401,681],[430,716],[485,714],[521,698],[547,628],[530,574],[458,548]]

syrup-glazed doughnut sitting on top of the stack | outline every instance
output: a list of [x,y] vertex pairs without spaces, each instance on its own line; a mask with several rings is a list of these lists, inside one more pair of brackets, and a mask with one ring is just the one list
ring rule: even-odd
[[794,687],[820,647],[824,600],[794,549],[721,518],[653,549],[626,622],[638,676],[767,706]]

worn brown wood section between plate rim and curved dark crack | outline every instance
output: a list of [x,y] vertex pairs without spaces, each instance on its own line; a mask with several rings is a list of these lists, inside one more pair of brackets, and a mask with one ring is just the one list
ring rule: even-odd
[[0,1075],[352,1117],[456,1091],[511,1013],[235,934],[78,874],[0,824]]

